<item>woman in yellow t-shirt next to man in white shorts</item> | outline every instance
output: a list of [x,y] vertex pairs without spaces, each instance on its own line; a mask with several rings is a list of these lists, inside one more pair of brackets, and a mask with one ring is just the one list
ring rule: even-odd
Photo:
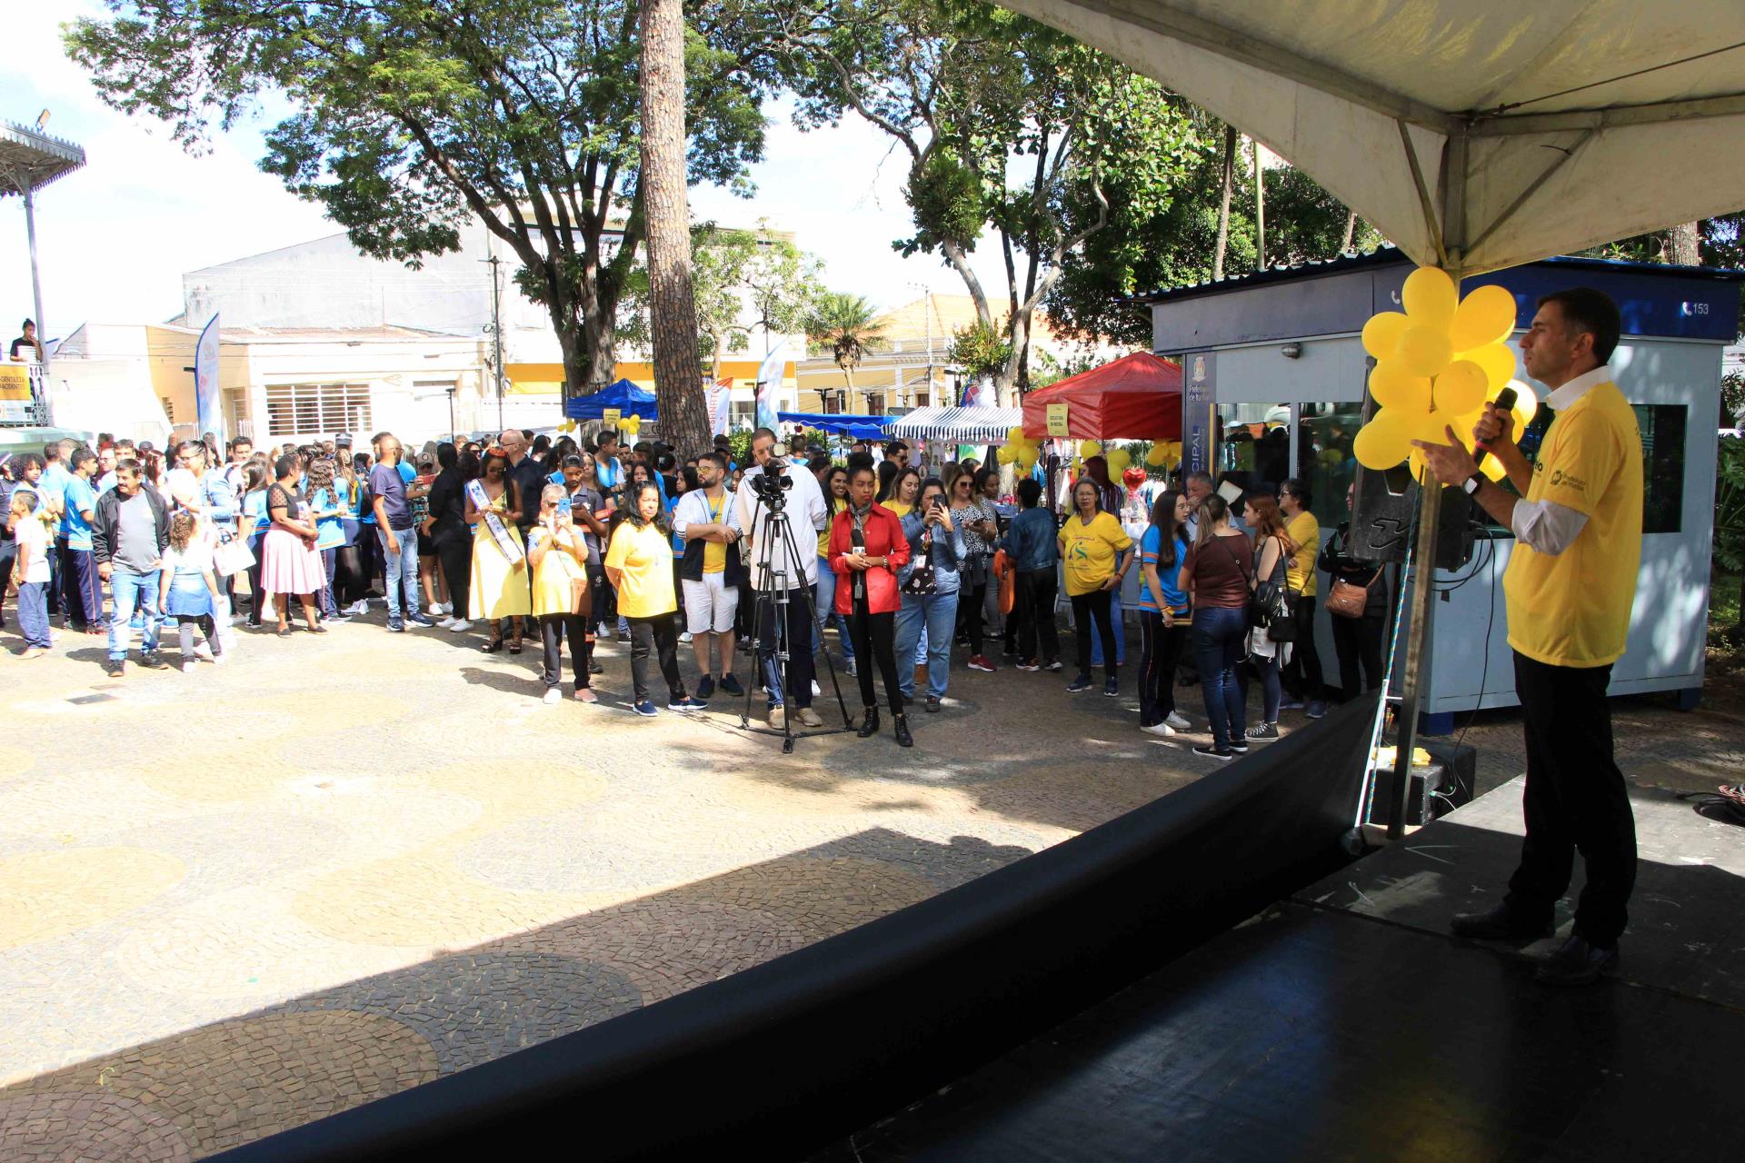
[[660,654],[660,673],[667,678],[667,710],[695,711],[708,706],[684,692],[679,677],[679,609],[672,586],[672,527],[660,490],[651,481],[632,481],[625,490],[625,520],[612,530],[606,551],[606,577],[618,589],[618,612],[630,622],[630,684],[635,687],[637,715],[653,718],[660,711],[649,701],[649,652]]

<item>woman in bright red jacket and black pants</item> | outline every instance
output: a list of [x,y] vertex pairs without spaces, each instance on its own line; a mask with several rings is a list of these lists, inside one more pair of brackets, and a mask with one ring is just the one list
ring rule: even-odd
[[902,687],[897,684],[897,570],[909,563],[909,539],[902,523],[885,506],[872,502],[878,473],[872,457],[857,452],[848,457],[848,507],[836,514],[831,525],[831,570],[836,572],[836,612],[848,621],[848,638],[853,642],[859,668],[860,701],[866,704],[866,722],[857,732],[862,739],[878,734],[878,697],[872,694],[872,668],[866,659],[876,659],[885,677],[885,697],[897,720],[897,746],[914,746],[909,720],[902,713]]

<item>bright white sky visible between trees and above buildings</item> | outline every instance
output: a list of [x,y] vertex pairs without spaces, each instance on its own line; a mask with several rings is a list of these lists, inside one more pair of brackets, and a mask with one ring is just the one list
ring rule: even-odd
[[[86,148],[87,166],[38,195],[37,242],[49,335],[86,321],[157,321],[181,309],[181,272],[333,234],[319,207],[302,202],[257,167],[262,124],[218,136],[188,155],[164,126],[129,119],[98,101],[89,80],[61,52],[59,23],[99,12],[92,0],[33,5],[7,24],[0,119],[33,124]],[[906,155],[885,134],[850,120],[803,134],[771,110],[766,160],[752,174],[750,201],[693,188],[696,218],[792,230],[825,263],[832,289],[895,305],[963,282],[937,260],[900,258],[890,241],[909,232],[902,202]],[[977,255],[991,295],[1005,286],[998,253]],[[24,211],[0,201],[0,326],[33,314]],[[12,335],[12,331],[7,331]]]

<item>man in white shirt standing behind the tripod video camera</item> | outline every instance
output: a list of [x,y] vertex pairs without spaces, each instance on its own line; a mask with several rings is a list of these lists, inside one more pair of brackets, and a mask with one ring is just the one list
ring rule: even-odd
[[[735,507],[740,528],[745,530],[747,558],[752,588],[757,595],[770,593],[778,584],[787,589],[787,685],[775,664],[777,635],[771,616],[757,612],[757,661],[770,694],[770,725],[787,725],[787,703],[792,701],[799,722],[822,727],[824,718],[811,710],[811,605],[808,596],[818,581],[818,532],[827,509],[818,478],[801,466],[790,469],[787,460],[773,455],[775,432],[766,427],[752,432],[754,467],[740,479]],[[790,537],[771,534],[773,506],[787,513]]]

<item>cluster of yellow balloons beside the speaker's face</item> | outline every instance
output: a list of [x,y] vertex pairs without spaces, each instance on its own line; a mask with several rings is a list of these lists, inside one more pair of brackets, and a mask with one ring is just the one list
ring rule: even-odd
[[[1502,286],[1476,288],[1461,298],[1448,272],[1419,267],[1399,295],[1405,312],[1382,310],[1363,324],[1363,349],[1375,356],[1370,396],[1377,411],[1358,431],[1352,455],[1370,469],[1412,462],[1412,474],[1424,476],[1424,453],[1413,439],[1445,443],[1454,429],[1473,446],[1473,425],[1485,406],[1509,385],[1515,352],[1515,296]],[[1532,420],[1539,401],[1532,389],[1516,384],[1515,431]],[[1494,457],[1483,471],[1495,479],[1502,469]]]

